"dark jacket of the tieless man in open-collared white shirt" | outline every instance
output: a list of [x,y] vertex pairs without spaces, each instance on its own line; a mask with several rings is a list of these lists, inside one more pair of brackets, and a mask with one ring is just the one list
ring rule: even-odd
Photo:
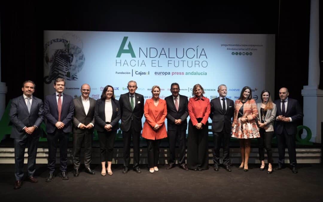
[[[84,125],[88,125],[92,123],[94,125],[94,108],[96,100],[93,98],[89,98],[90,107],[88,114],[85,114],[82,96],[73,99],[74,103],[74,119],[73,119],[73,133],[84,133],[85,130],[88,129],[80,129],[78,128],[79,123],[83,123]],[[89,133],[92,134],[94,131],[94,127],[89,129]]]

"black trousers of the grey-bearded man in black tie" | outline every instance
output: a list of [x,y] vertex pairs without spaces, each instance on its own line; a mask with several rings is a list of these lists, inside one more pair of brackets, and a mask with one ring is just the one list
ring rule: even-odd
[[230,162],[230,138],[231,134],[226,133],[223,129],[220,133],[213,132],[214,150],[213,150],[213,162],[216,165],[220,164],[220,147],[223,144],[223,165],[229,165]]

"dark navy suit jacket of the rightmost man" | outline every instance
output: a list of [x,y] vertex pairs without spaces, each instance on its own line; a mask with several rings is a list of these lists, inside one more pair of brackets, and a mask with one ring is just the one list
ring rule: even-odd
[[[274,103],[277,106],[277,113],[276,117],[279,115],[283,115],[283,112],[280,108],[280,100],[275,100]],[[292,118],[292,122],[282,122],[282,121],[276,121],[275,122],[275,133],[276,134],[282,134],[283,129],[285,127],[287,134],[294,135],[297,133],[297,121],[302,119],[304,116],[302,112],[301,105],[297,100],[288,98],[287,102],[287,109],[285,113],[285,117]]]

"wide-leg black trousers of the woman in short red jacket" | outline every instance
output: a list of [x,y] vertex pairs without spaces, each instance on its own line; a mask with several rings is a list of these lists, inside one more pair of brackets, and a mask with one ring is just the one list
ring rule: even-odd
[[[197,120],[200,122],[202,118]],[[188,123],[187,166],[189,169],[209,169],[208,125],[209,123],[206,122],[202,129],[196,129],[191,120]]]

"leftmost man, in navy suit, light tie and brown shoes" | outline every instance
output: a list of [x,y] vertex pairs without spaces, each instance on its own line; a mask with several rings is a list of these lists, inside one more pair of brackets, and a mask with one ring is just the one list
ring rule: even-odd
[[39,126],[44,120],[43,101],[33,96],[35,83],[25,81],[22,85],[23,95],[12,99],[9,112],[12,130],[10,137],[15,145],[15,177],[14,189],[19,189],[24,178],[24,155],[28,147],[27,180],[32,183],[38,182],[34,177],[37,145],[39,140]]

